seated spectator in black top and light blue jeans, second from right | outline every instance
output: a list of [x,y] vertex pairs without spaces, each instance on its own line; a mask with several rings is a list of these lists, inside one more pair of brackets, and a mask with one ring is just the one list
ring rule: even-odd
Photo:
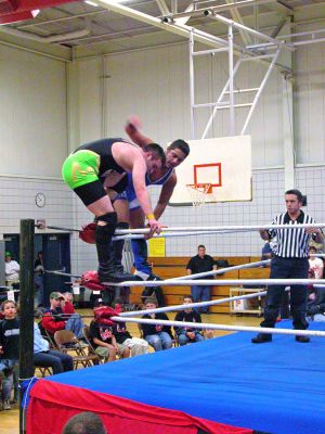
[[[156,301],[153,297],[147,297],[144,304],[146,309],[157,308]],[[144,315],[142,318],[168,320],[167,315],[164,312],[148,314]],[[143,337],[152,347],[154,347],[155,352],[171,348],[173,336],[169,326],[141,324],[141,329]]]

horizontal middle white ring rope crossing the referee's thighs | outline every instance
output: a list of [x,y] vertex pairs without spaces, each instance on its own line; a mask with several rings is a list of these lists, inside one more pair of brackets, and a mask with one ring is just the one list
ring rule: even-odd
[[325,279],[224,279],[224,280],[128,280],[121,283],[105,282],[109,286],[237,286],[237,285],[314,285],[325,284]]

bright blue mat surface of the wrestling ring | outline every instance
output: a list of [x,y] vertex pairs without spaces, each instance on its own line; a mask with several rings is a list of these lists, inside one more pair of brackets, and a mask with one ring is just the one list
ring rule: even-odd
[[324,434],[325,340],[273,335],[272,343],[251,344],[253,335],[234,333],[46,381],[266,433]]

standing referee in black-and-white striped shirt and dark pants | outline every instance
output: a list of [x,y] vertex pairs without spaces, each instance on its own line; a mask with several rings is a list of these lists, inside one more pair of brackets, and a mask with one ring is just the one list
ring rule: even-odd
[[[268,240],[270,235],[272,238],[276,237],[270,279],[308,279],[309,240],[312,237],[315,242],[322,243],[323,232],[316,228],[298,229],[301,224],[312,225],[315,222],[312,217],[306,215],[300,209],[302,206],[302,194],[299,190],[288,190],[285,193],[285,202],[287,212],[277,215],[272,225],[296,225],[297,229],[270,229],[260,231],[263,240]],[[268,288],[264,320],[261,322],[261,327],[274,328],[285,288],[285,285],[270,285]],[[290,294],[294,328],[306,330],[308,328],[306,320],[308,289],[306,285],[291,285]],[[259,333],[251,340],[253,344],[262,344],[271,341],[272,334],[266,333]],[[310,339],[308,336],[296,336],[296,341],[307,343]]]

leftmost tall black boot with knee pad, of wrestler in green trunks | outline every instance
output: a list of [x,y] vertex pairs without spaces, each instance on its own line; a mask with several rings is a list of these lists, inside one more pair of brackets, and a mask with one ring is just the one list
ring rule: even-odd
[[99,221],[105,221],[107,224],[105,226],[98,225],[95,230],[100,281],[105,283],[120,283],[126,280],[134,280],[132,275],[118,271],[114,267],[112,237],[117,224],[116,213],[107,213],[104,216],[100,216]]

